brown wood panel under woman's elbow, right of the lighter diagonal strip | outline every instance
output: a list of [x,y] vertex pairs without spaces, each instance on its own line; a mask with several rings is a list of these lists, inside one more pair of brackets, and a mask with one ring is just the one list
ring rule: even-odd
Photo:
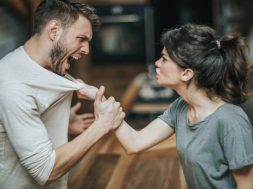
[[124,189],[181,189],[179,161],[169,150],[142,153]]

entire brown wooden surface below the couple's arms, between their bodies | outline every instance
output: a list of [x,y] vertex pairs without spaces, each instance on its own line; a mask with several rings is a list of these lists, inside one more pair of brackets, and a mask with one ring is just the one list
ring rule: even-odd
[[174,136],[127,155],[113,134],[100,140],[71,171],[69,189],[186,189]]

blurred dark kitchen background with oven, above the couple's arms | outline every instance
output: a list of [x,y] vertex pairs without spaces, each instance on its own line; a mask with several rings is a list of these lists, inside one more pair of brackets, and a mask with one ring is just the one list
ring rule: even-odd
[[[29,38],[33,11],[39,2],[0,1],[0,58]],[[160,36],[166,29],[184,23],[205,24],[220,35],[240,32],[253,48],[252,0],[83,2],[97,9],[102,27],[94,33],[90,54],[72,65],[70,74],[91,85],[104,85],[107,95],[121,101],[129,117],[135,119],[152,120],[177,96],[157,86],[154,79],[154,62],[162,50]],[[252,52],[249,60],[253,62]],[[73,103],[76,101],[74,97]],[[83,104],[80,112],[92,111],[92,103]],[[248,111],[248,105],[245,107]]]

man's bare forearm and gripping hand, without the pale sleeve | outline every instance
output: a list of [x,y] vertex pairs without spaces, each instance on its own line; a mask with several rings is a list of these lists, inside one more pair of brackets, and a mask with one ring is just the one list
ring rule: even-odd
[[103,95],[104,88],[101,87],[95,98],[94,109],[97,116],[91,127],[71,142],[56,149],[55,165],[46,185],[66,174],[98,139],[120,125],[124,119],[125,114],[120,104],[112,98],[102,102]]

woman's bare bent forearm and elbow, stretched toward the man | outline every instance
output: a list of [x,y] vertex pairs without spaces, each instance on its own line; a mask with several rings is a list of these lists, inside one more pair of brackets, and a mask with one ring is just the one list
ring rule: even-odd
[[140,131],[133,129],[125,121],[116,129],[115,134],[128,153],[136,153],[150,148],[170,137],[174,129],[157,118]]

